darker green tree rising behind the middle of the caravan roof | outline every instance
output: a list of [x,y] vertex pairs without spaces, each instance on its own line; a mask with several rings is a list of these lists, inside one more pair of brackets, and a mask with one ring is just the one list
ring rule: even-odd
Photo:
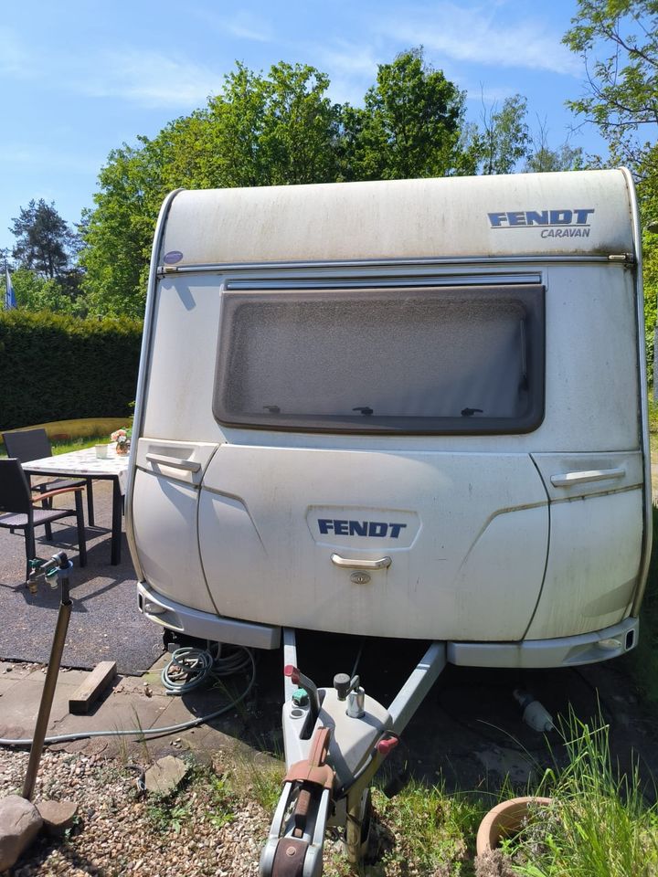
[[377,67],[364,108],[342,111],[343,177],[444,176],[458,160],[464,94],[423,59],[422,48]]

